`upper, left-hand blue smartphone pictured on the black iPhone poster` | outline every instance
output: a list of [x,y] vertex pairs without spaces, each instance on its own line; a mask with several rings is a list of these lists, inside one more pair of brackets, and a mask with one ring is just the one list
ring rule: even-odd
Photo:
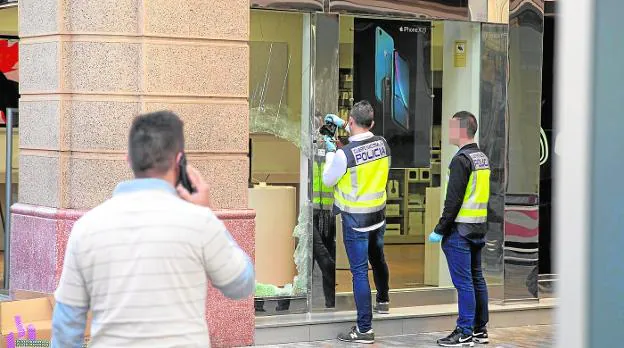
[[[388,89],[392,89],[393,54],[394,39],[385,30],[377,27],[375,29],[375,97],[380,102],[384,102]],[[384,112],[385,110],[384,106]]]

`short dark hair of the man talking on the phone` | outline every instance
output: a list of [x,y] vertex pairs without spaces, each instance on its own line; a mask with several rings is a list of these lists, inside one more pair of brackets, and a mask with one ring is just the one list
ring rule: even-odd
[[184,123],[171,111],[137,116],[128,137],[128,156],[137,177],[164,174],[184,151]]

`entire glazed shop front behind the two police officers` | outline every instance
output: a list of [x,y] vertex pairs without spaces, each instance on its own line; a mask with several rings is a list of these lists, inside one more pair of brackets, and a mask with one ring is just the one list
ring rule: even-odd
[[[384,236],[391,301],[456,301],[440,246],[427,236],[458,150],[448,143],[454,113],[479,115],[477,140],[483,134],[484,151],[502,165],[506,90],[492,69],[506,66],[505,33],[490,31],[482,44],[479,23],[252,10],[249,207],[257,213],[257,315],[354,309],[340,216],[332,213],[333,189],[322,184],[319,128],[326,113],[347,120],[360,100],[372,104],[372,132],[392,152]],[[339,143],[348,137],[337,133]],[[504,173],[496,173],[500,184]],[[493,202],[489,223],[501,230],[502,211]],[[496,250],[484,251],[486,273],[497,272]],[[369,279],[374,291],[372,272]],[[497,276],[489,280],[500,284]],[[423,300],[428,289],[435,295]]]

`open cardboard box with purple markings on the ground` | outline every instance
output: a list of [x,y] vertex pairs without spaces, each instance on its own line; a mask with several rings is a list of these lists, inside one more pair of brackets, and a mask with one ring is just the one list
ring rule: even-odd
[[[52,295],[16,291],[0,302],[0,348],[49,347],[52,337]],[[85,344],[91,332],[91,316],[85,329]]]

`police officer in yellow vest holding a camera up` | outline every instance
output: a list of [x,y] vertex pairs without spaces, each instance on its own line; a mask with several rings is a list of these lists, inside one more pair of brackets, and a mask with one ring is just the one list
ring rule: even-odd
[[384,257],[386,231],[386,183],[390,170],[390,147],[382,137],[371,133],[373,107],[367,101],[353,105],[349,121],[327,115],[326,121],[345,127],[349,144],[336,151],[326,137],[323,183],[334,187],[334,213],[342,216],[342,233],[353,275],[353,296],[357,325],[338,335],[345,342],[373,343],[373,308],[368,282],[368,263],[373,268],[377,288],[378,313],[389,311],[388,265]]

